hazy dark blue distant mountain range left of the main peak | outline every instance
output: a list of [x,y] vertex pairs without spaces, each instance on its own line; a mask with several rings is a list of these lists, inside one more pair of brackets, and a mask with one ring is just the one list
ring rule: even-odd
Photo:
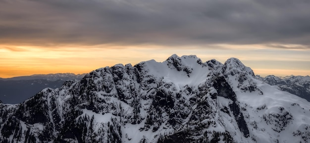
[[0,78],[0,100],[3,103],[17,104],[45,88],[59,88],[65,81],[82,79],[85,75],[57,73]]

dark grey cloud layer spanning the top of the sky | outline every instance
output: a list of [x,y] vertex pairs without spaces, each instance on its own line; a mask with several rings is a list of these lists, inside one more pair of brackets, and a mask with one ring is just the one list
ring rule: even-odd
[[309,48],[309,7],[309,0],[0,0],[0,43]]

